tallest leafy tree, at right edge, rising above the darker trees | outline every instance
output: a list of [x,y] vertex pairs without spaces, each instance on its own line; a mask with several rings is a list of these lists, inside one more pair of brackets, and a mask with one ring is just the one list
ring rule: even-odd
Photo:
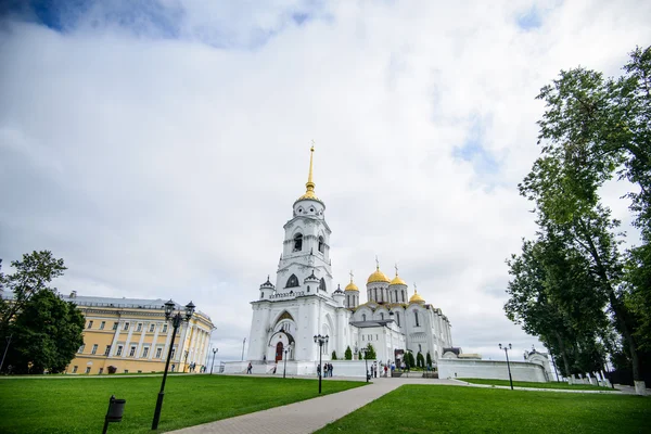
[[[542,154],[521,193],[539,216],[558,226],[565,241],[590,263],[597,292],[608,298],[614,324],[641,380],[639,349],[651,341],[651,48],[637,48],[620,78],[575,68],[540,90]],[[617,250],[617,221],[600,204],[599,189],[614,176],[629,191],[641,245],[628,257]],[[624,267],[626,266],[626,267]]]

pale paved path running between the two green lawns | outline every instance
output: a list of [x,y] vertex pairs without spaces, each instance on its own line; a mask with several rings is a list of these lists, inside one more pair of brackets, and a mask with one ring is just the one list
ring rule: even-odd
[[[340,379],[335,378],[334,380]],[[359,381],[359,379],[356,380]],[[323,380],[323,382],[326,383],[324,387],[328,387],[328,380]],[[434,383],[460,384],[455,380],[373,379],[373,383],[367,386],[173,432],[177,434],[308,434],[366,406],[403,384]]]

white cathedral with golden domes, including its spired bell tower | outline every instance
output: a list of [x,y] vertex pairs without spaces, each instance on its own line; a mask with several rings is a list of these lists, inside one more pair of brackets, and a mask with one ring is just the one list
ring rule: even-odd
[[[330,259],[330,235],[326,204],[315,193],[314,146],[310,149],[306,191],[292,206],[284,225],[282,254],[275,283],[269,277],[252,302],[253,319],[247,360],[254,365],[290,361],[294,372],[316,372],[321,356],[343,359],[349,347],[353,358],[371,344],[381,363],[400,362],[407,352],[419,353],[432,363],[452,346],[450,323],[439,308],[427,304],[416,285],[409,296],[407,283],[390,279],[375,259],[375,269],[366,282],[366,303],[350,272],[344,290],[334,288]],[[329,336],[322,347],[315,335]],[[319,350],[321,354],[319,355]]]

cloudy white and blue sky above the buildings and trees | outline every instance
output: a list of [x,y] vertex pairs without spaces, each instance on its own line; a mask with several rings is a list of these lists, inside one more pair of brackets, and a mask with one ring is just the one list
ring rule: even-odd
[[[539,345],[502,310],[535,230],[538,90],[618,75],[651,2],[33,1],[0,7],[0,257],[60,291],[192,299],[239,359],[284,222],[316,192],[335,281],[416,282],[467,353]],[[614,214],[629,220],[617,197]],[[362,301],[366,293],[362,292]]]

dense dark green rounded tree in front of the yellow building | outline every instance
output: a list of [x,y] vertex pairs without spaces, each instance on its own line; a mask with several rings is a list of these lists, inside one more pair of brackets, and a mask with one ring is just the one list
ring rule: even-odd
[[84,344],[85,319],[77,306],[53,291],[34,294],[16,315],[5,367],[15,373],[62,372]]

